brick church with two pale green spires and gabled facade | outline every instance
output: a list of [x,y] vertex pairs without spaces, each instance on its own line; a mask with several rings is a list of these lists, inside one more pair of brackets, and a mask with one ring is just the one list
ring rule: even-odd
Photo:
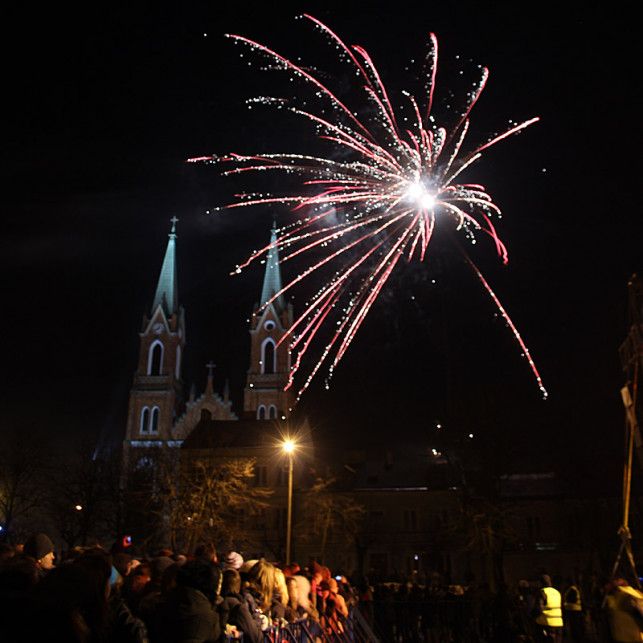
[[[204,421],[288,420],[293,394],[284,390],[290,374],[289,342],[280,340],[293,323],[292,306],[281,289],[279,256],[270,250],[261,289],[261,299],[250,322],[250,356],[243,392],[243,409],[237,414],[226,389],[213,388],[213,364],[205,391],[191,390],[186,398],[182,373],[185,351],[185,311],[179,302],[176,233],[172,220],[165,258],[149,315],[140,330],[138,367],[130,392],[124,449],[136,459],[136,449],[178,448]],[[271,232],[275,242],[276,230]]]

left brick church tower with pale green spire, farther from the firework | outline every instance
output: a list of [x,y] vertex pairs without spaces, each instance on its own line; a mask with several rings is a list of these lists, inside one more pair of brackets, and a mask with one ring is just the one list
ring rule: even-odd
[[179,446],[172,427],[183,411],[181,363],[185,347],[185,318],[178,303],[176,223],[172,218],[165,259],[151,313],[143,316],[138,367],[130,391],[126,453],[136,447]]

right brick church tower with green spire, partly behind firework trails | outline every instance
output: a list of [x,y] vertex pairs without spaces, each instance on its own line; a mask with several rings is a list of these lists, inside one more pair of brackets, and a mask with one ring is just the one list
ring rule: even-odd
[[283,295],[275,298],[281,289],[277,229],[273,225],[261,302],[250,320],[250,368],[243,392],[247,419],[286,419],[293,406],[291,389],[284,391],[291,369],[291,338],[279,343],[292,326],[293,312]]

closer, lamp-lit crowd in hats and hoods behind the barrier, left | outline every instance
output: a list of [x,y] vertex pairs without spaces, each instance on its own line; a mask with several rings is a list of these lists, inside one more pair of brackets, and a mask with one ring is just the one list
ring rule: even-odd
[[345,578],[313,563],[277,566],[219,556],[203,543],[190,556],[159,550],[141,556],[127,539],[98,543],[55,561],[50,538],[0,546],[0,641],[70,643],[261,643],[287,624],[310,640],[345,638]]

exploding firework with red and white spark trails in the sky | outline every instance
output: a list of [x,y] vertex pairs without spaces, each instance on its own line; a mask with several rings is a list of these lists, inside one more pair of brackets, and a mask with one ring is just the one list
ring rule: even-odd
[[[462,109],[456,114],[456,125],[438,127],[432,115],[438,42],[431,34],[426,61],[426,104],[403,92],[412,117],[404,127],[400,127],[389,94],[366,50],[356,45],[347,46],[322,22],[312,16],[304,17],[337,48],[339,59],[350,67],[351,75],[357,77],[368,109],[351,109],[314,72],[265,45],[243,36],[228,35],[235,43],[267,58],[272,68],[285,72],[291,80],[300,80],[311,87],[315,92],[317,110],[298,107],[276,97],[259,97],[249,103],[272,105],[305,119],[316,129],[319,139],[331,146],[331,150],[328,156],[273,153],[189,159],[231,164],[233,167],[226,169],[224,175],[276,170],[302,179],[301,192],[298,193],[285,196],[240,194],[237,195],[238,202],[214,208],[217,211],[282,204],[289,205],[294,211],[304,211],[300,221],[282,230],[283,234],[274,246],[282,262],[315,250],[323,250],[324,257],[313,261],[264,305],[269,305],[317,271],[337,266],[335,274],[325,280],[325,285],[312,297],[287,335],[286,341],[291,342],[293,350],[297,350],[288,384],[291,386],[302,366],[304,354],[312,350],[322,329],[332,319],[338,318],[336,330],[325,342],[321,357],[309,372],[298,398],[322,364],[330,363],[328,372],[332,376],[399,259],[402,256],[408,261],[415,256],[420,260],[425,258],[437,215],[452,219],[456,229],[464,229],[471,238],[474,231],[489,235],[498,256],[503,263],[507,262],[507,248],[491,220],[493,215],[500,215],[500,209],[492,202],[484,186],[456,183],[456,180],[480,159],[484,150],[538,120],[532,118],[513,125],[472,151],[463,153],[471,110],[480,98],[489,72],[482,68],[480,80],[467,94]],[[325,115],[327,109],[332,116]],[[336,160],[344,158],[350,160]],[[245,263],[237,266],[236,272],[267,254],[272,247],[268,245],[253,253]],[[352,255],[355,251],[360,253],[357,260]],[[546,397],[547,391],[522,337],[478,268],[464,254],[512,330]],[[368,266],[371,267],[364,276]]]

